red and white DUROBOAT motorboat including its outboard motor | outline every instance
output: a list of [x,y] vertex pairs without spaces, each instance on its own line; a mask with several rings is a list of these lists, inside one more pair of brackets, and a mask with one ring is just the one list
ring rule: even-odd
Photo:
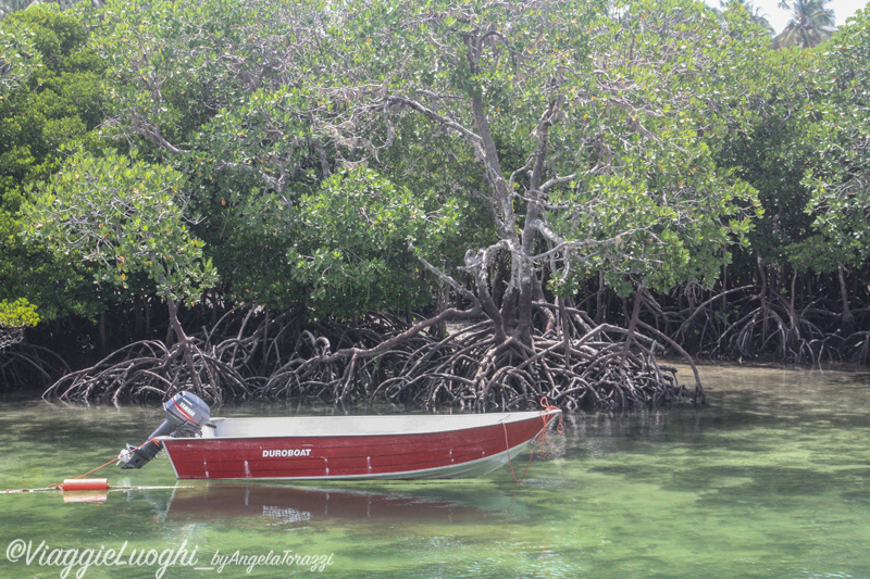
[[[494,414],[210,418],[194,399],[183,392],[166,403],[170,419],[148,442],[122,452],[125,468],[140,467],[162,445],[181,479],[468,478],[507,464],[561,414],[547,405]],[[171,421],[183,426],[165,436]],[[139,454],[151,456],[142,462]]]

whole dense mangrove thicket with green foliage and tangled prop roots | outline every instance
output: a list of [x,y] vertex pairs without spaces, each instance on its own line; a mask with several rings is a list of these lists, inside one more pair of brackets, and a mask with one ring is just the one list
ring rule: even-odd
[[825,34],[684,0],[15,12],[0,328],[34,327],[0,376],[59,378],[21,374],[45,347],[71,398],[622,406],[685,392],[657,352],[867,363],[870,14],[794,4]]

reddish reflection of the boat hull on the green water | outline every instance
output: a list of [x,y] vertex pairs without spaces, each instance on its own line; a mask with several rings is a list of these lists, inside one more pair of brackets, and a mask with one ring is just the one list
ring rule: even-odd
[[465,487],[467,490],[370,492],[266,484],[178,486],[163,518],[173,523],[256,517],[283,524],[326,519],[458,523],[511,513],[510,492],[481,484]]

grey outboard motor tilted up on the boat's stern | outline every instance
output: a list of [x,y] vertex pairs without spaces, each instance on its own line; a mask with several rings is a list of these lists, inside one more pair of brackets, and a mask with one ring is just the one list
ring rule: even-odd
[[127,448],[117,455],[121,468],[141,468],[160,452],[157,437],[195,437],[211,418],[209,405],[190,392],[178,392],[163,404],[166,419],[151,432],[145,444]]

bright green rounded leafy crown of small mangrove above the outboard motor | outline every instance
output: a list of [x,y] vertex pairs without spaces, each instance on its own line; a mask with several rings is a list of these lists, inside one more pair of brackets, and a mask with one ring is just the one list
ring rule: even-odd
[[24,235],[84,262],[96,284],[128,286],[141,272],[170,301],[196,300],[216,280],[190,235],[189,192],[172,167],[107,154],[73,156],[22,209]]

